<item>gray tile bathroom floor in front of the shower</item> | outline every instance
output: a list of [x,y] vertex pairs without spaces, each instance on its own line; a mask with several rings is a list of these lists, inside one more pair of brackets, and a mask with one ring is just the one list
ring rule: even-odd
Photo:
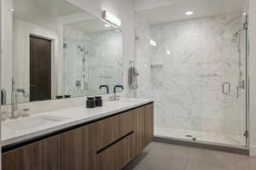
[[256,157],[154,142],[125,170],[256,170]]

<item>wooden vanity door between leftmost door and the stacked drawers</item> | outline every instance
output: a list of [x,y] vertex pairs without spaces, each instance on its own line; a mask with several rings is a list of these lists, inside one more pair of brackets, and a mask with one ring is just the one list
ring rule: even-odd
[[61,170],[96,169],[96,124],[61,134]]

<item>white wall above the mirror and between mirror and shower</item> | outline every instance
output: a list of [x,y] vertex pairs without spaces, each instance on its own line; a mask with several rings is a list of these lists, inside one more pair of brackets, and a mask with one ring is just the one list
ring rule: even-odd
[[122,20],[123,29],[123,63],[124,63],[124,85],[125,94],[129,96],[127,83],[127,70],[130,66],[130,60],[135,60],[135,27],[134,10],[131,0],[67,0],[80,8],[84,8],[90,14],[95,14],[102,18],[102,10],[108,10],[109,13],[116,15]]

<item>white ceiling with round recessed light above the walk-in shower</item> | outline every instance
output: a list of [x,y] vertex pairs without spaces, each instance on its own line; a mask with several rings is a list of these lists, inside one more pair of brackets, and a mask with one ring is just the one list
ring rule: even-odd
[[[189,20],[222,14],[242,13],[247,0],[133,0],[137,16],[149,24]],[[193,15],[185,15],[193,11]]]

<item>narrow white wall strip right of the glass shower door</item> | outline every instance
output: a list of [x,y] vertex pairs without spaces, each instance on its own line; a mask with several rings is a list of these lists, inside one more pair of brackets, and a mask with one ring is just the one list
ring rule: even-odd
[[249,3],[249,37],[250,37],[250,109],[249,109],[249,129],[250,129],[250,155],[256,156],[256,1]]

